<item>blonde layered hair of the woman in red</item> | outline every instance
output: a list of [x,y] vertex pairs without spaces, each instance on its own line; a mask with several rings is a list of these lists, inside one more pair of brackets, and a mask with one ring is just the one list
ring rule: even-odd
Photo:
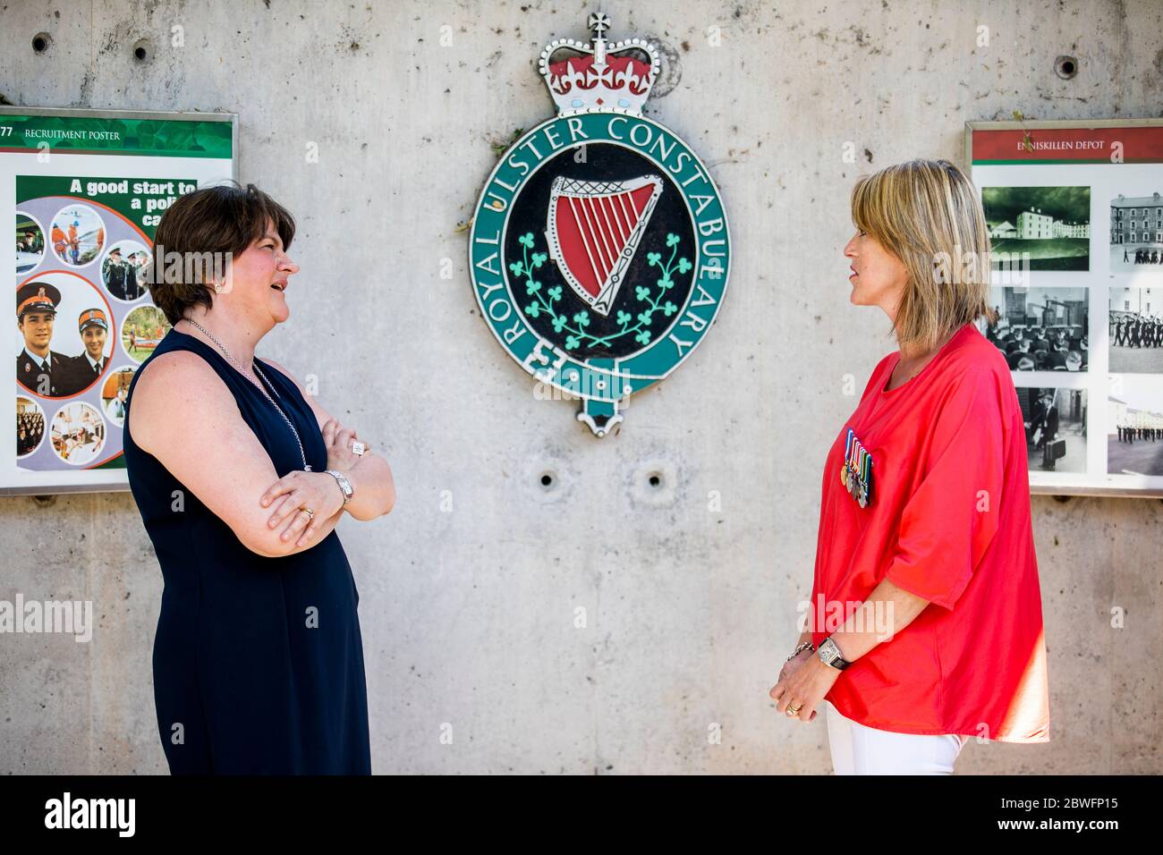
[[852,187],[852,222],[908,271],[894,322],[901,347],[925,351],[990,307],[990,233],[972,181],[949,161],[909,161]]

